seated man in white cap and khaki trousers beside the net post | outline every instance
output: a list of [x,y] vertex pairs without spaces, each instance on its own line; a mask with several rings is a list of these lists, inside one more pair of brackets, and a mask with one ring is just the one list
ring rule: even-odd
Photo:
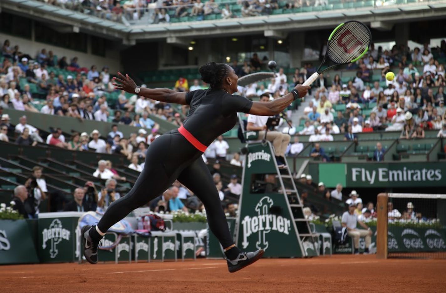
[[[367,227],[361,220],[355,215],[356,205],[355,203],[350,203],[348,205],[348,212],[344,212],[342,215],[342,226],[347,228],[348,236],[353,238],[355,246],[355,254],[359,254],[359,237],[365,237],[365,249],[364,254],[369,252],[372,230]],[[367,230],[357,229],[357,224],[361,225]]]

